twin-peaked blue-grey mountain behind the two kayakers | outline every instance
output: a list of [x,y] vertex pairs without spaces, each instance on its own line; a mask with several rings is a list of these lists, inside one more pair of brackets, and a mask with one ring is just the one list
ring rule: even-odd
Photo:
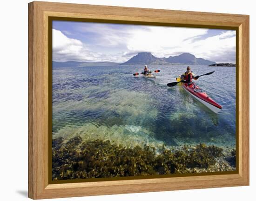
[[165,64],[187,64],[187,65],[210,65],[215,64],[203,58],[196,58],[193,54],[183,53],[178,56],[169,56],[168,58],[157,58],[150,52],[140,52],[133,58],[121,65],[165,65]]

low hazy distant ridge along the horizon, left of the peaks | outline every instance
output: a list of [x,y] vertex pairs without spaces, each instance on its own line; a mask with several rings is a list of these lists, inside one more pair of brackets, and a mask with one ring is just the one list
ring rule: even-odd
[[101,62],[81,62],[81,61],[66,61],[57,62],[53,61],[53,67],[84,67],[84,66],[110,66],[119,65],[120,63],[101,61]]

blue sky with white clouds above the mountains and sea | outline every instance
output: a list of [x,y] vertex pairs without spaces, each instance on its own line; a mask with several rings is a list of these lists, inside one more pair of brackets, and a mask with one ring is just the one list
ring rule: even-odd
[[53,21],[54,61],[125,62],[138,52],[236,63],[236,31]]

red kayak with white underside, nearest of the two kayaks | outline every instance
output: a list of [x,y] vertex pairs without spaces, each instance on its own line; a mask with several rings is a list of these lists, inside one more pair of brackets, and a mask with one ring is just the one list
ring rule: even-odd
[[189,92],[195,99],[200,101],[202,104],[204,104],[206,107],[208,107],[210,110],[212,110],[215,113],[218,113],[222,110],[222,106],[217,104],[213,99],[211,99],[207,93],[202,91],[202,89],[199,88],[195,83],[193,84],[182,84],[182,87]]

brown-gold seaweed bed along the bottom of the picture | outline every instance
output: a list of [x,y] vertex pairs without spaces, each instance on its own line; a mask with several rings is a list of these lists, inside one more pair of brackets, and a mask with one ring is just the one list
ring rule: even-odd
[[207,169],[222,155],[221,148],[205,144],[178,150],[163,147],[156,154],[148,145],[129,148],[110,141],[82,142],[80,136],[54,143],[59,145],[53,146],[54,180],[190,173],[194,168]]

